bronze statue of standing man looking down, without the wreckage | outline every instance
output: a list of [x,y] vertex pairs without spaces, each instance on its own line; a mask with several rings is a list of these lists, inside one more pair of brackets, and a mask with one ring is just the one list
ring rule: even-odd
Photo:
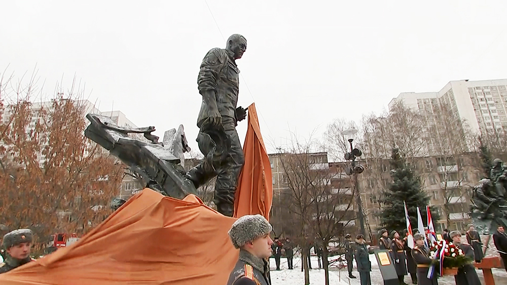
[[239,69],[236,59],[245,51],[245,37],[233,34],[227,39],[225,49],[211,49],[202,60],[197,78],[202,104],[196,141],[204,161],[186,174],[196,188],[216,176],[213,201],[218,211],[229,217],[234,214],[234,193],[244,164],[236,126],[246,118],[246,110],[237,107]]

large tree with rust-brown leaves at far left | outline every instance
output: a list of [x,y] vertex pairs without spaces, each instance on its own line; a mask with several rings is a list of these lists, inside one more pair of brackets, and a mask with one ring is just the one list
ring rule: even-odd
[[83,234],[111,213],[122,166],[84,136],[82,93],[74,84],[57,88],[46,103],[32,103],[33,80],[10,84],[0,85],[3,224],[29,227],[41,241],[55,231]]

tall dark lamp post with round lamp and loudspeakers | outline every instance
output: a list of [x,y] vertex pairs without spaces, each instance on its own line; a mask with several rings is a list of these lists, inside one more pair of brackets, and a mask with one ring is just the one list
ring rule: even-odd
[[351,162],[351,168],[347,169],[347,174],[353,175],[354,187],[357,194],[357,219],[359,220],[361,234],[366,237],[365,214],[363,213],[363,202],[361,202],[361,194],[359,193],[359,181],[357,180],[357,175],[363,173],[363,171],[365,171],[365,168],[362,165],[358,165],[357,161],[355,161],[356,157],[359,157],[363,154],[360,149],[352,147],[352,142],[354,141],[354,135],[356,133],[356,129],[348,129],[343,131],[342,135],[347,137],[347,140],[350,143],[350,152],[345,153],[345,159],[350,160]]

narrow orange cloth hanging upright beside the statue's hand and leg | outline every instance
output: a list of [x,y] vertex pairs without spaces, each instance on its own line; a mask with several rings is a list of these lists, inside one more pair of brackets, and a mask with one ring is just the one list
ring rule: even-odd
[[271,164],[262,140],[255,103],[248,106],[248,129],[243,153],[245,165],[238,180],[234,217],[261,214],[269,221],[273,199]]

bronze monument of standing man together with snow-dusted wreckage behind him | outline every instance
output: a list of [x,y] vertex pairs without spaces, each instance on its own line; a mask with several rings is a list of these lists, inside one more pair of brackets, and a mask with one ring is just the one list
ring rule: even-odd
[[[88,114],[91,124],[85,136],[118,157],[142,178],[146,187],[182,199],[197,195],[196,189],[216,177],[214,203],[218,212],[232,217],[234,195],[244,164],[243,150],[236,132],[237,122],[246,118],[246,109],[238,107],[239,69],[236,59],[246,51],[246,39],[233,34],[225,49],[211,49],[204,57],[197,78],[202,96],[197,119],[197,143],[204,155],[201,164],[186,172],[183,153],[190,150],[183,126],[168,140],[158,142],[151,133],[155,127],[123,128],[111,118]],[[146,140],[129,134],[143,134]],[[124,201],[123,201],[124,202]],[[121,202],[116,202],[117,209]]]

